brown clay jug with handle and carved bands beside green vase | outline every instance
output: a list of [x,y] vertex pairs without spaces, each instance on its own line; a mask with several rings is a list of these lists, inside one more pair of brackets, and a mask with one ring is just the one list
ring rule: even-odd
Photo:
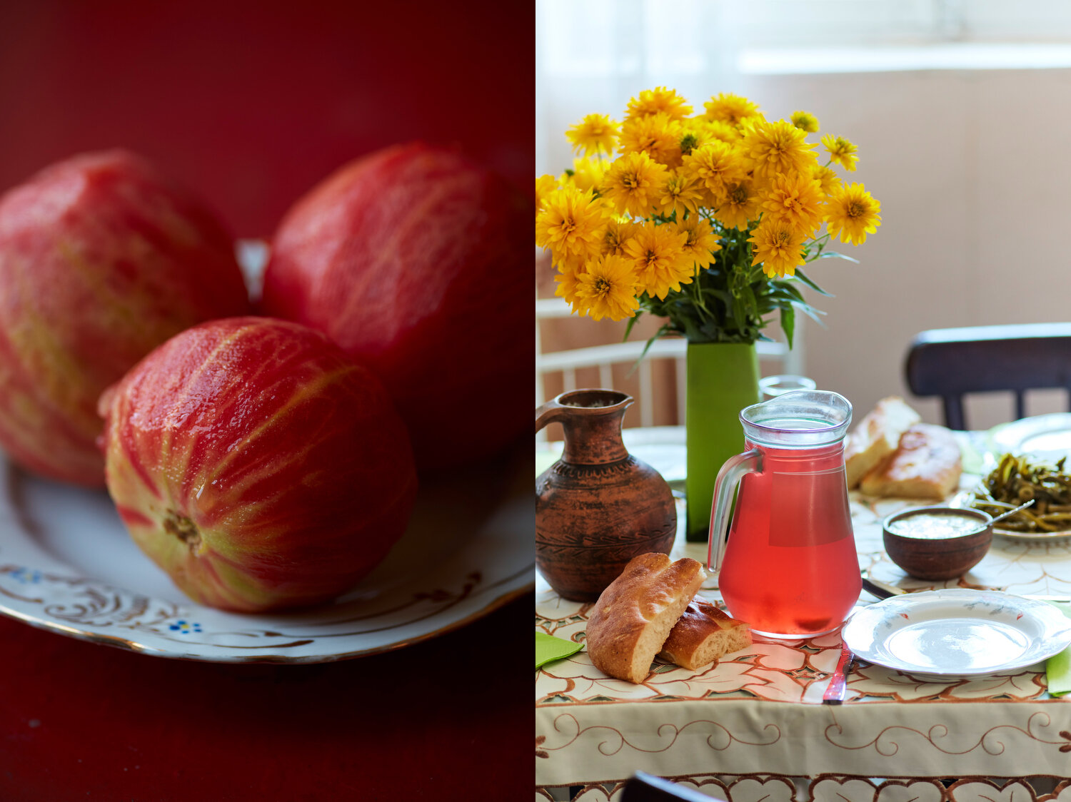
[[633,557],[673,546],[673,491],[621,440],[631,404],[614,390],[573,390],[536,410],[537,432],[559,422],[565,434],[561,459],[536,480],[536,565],[564,599],[593,602]]

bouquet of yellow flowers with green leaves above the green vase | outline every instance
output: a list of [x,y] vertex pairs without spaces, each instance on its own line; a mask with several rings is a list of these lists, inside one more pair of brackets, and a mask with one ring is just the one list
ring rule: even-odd
[[[768,121],[744,97],[692,107],[673,89],[643,91],[621,123],[588,115],[567,136],[579,156],[537,181],[536,242],[557,269],[557,294],[595,320],[642,312],[666,318],[659,334],[690,343],[754,343],[780,312],[791,346],[795,309],[811,317],[801,267],[829,242],[858,245],[880,225],[880,205],[833,165],[856,169],[856,147],[808,135],[797,111]],[[825,224],[825,231],[821,231]],[[846,258],[846,257],[845,257]]]

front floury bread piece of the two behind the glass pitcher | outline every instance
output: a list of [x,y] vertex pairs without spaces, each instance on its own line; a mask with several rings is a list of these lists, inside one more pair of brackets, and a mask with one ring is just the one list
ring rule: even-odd
[[960,486],[963,457],[955,436],[944,426],[917,423],[900,438],[884,464],[863,476],[868,496],[942,500]]

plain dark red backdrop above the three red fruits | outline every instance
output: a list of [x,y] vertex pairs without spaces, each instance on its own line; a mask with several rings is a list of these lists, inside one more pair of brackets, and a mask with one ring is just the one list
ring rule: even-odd
[[0,188],[123,146],[263,237],[331,170],[409,139],[530,192],[534,128],[525,2],[0,3]]

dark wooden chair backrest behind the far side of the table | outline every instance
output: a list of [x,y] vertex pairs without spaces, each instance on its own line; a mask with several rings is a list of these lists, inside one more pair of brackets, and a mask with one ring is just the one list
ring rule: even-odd
[[924,331],[911,342],[904,372],[915,395],[940,396],[953,429],[966,428],[968,393],[1011,391],[1017,420],[1026,417],[1027,390],[1064,388],[1071,409],[1071,323]]

